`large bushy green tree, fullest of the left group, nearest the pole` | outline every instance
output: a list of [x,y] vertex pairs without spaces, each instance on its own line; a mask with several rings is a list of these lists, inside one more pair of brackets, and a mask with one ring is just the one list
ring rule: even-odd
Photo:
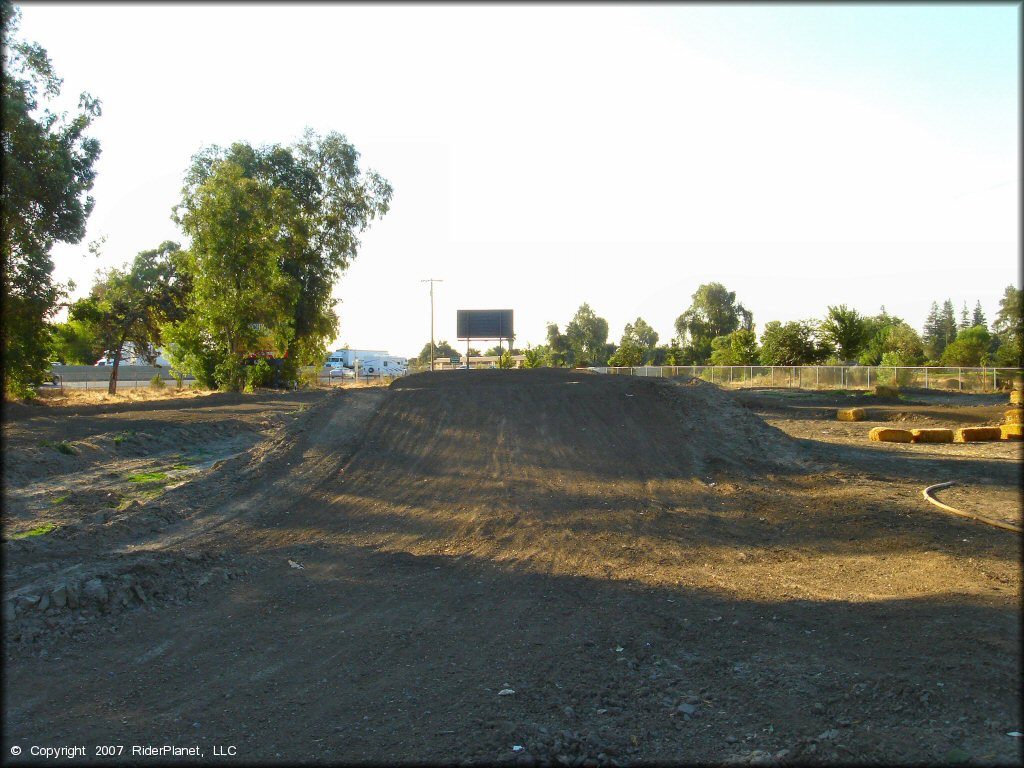
[[[392,195],[379,174],[360,172],[358,157],[343,135],[306,129],[290,147],[237,142],[207,147],[193,159],[174,211],[193,236],[193,278],[200,286],[201,272],[227,267],[218,276],[237,285],[217,296],[197,292],[194,314],[204,334],[183,336],[215,345],[224,385],[233,387],[239,355],[257,343],[243,325],[292,365],[323,359],[338,329],[334,284],[356,257],[358,234],[387,213]],[[257,281],[243,273],[249,261]],[[265,281],[262,311],[253,304],[259,281]],[[241,302],[236,314],[245,323],[229,330],[227,315],[214,311],[211,301],[226,301],[220,309]]]

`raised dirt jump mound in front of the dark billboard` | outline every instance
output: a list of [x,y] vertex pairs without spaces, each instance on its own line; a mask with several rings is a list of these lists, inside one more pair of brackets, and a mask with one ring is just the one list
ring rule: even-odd
[[413,376],[391,389],[379,441],[398,456],[419,445],[438,474],[516,479],[543,468],[613,480],[702,479],[778,472],[801,458],[792,438],[689,377],[456,371]]

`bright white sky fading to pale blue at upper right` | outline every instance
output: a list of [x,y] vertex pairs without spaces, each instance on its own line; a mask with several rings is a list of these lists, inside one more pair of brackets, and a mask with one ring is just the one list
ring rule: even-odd
[[[24,3],[74,110],[102,103],[85,240],[54,279],[165,240],[195,153],[344,134],[394,187],[335,288],[331,348],[516,346],[590,304],[667,343],[703,283],[770,321],[933,301],[991,322],[1020,273],[1013,4]],[[100,255],[87,243],[103,240]],[[474,343],[473,346],[487,346]]]

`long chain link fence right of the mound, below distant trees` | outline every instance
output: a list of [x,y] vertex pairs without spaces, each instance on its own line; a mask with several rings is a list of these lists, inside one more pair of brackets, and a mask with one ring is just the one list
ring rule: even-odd
[[957,392],[1020,389],[1019,368],[931,368],[895,366],[639,366],[594,368],[602,374],[692,376],[727,387],[872,389],[879,384]]

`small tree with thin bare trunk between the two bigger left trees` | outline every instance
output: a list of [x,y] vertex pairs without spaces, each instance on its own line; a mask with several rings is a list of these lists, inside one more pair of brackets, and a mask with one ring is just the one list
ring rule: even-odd
[[176,280],[174,259],[177,243],[139,253],[127,269],[110,269],[93,285],[89,295],[69,312],[73,321],[90,327],[113,355],[110,394],[118,391],[118,369],[125,344],[152,365],[161,343],[162,327],[177,319],[182,301],[182,283]]

